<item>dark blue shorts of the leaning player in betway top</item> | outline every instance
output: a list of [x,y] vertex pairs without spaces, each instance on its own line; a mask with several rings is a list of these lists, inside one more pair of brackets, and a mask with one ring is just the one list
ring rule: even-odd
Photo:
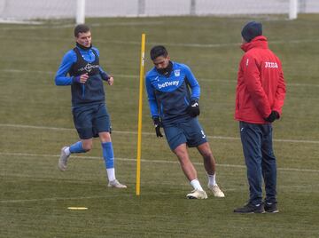
[[171,150],[186,143],[188,147],[198,147],[207,142],[203,128],[197,118],[185,122],[172,123],[164,126],[167,143]]

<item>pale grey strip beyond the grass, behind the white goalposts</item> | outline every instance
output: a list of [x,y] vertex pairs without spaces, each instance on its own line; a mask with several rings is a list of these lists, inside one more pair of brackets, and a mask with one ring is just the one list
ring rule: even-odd
[[[0,19],[74,18],[77,0],[0,0]],[[290,0],[87,0],[86,17],[287,14]],[[319,12],[318,0],[299,0],[298,12]]]

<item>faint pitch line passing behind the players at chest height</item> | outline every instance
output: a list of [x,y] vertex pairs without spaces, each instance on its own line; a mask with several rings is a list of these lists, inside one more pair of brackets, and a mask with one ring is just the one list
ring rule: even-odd
[[[32,74],[44,74],[44,75],[55,75],[56,72],[52,71],[41,71],[41,70],[23,70],[23,69],[0,69],[2,72],[7,73],[32,73]],[[139,75],[113,75],[114,77],[121,77],[121,78],[135,78],[139,80]],[[53,80],[53,79],[52,79]],[[219,83],[233,83],[237,82],[236,78],[233,79],[222,79],[222,78],[199,78],[199,82],[219,82]],[[319,84],[315,83],[287,83],[288,86],[294,87],[319,87]]]

